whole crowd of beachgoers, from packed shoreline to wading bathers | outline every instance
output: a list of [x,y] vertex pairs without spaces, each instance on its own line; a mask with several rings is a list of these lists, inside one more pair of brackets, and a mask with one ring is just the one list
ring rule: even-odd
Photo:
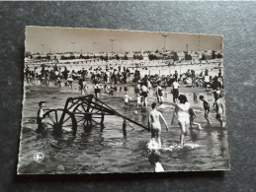
[[[167,87],[171,87],[170,94],[173,95],[173,103],[175,104],[175,110],[173,112],[172,123],[174,123],[174,118],[177,116],[179,126],[181,129],[180,143],[183,146],[185,141],[185,136],[188,133],[189,126],[197,125],[199,129],[202,129],[201,124],[195,122],[196,113],[191,107],[188,99],[184,95],[180,95],[179,88],[181,86],[190,86],[192,88],[199,87],[205,88],[206,90],[212,90],[214,96],[213,106],[216,106],[216,116],[215,118],[219,121],[220,126],[223,127],[224,123],[222,121],[222,116],[225,112],[225,105],[223,100],[223,78],[221,70],[219,69],[218,75],[211,77],[209,75],[209,70],[202,71],[199,74],[196,74],[194,70],[188,70],[186,73],[179,74],[177,71],[174,71],[173,74],[168,76],[159,76],[154,75],[140,75],[139,69],[136,69],[134,72],[130,72],[127,67],[122,68],[107,68],[102,69],[98,67],[96,69],[89,70],[79,70],[79,71],[69,71],[66,67],[61,71],[56,65],[52,68],[46,68],[42,66],[40,73],[37,68],[31,69],[30,67],[25,68],[25,78],[28,85],[32,85],[33,81],[38,80],[41,86],[48,86],[50,81],[54,82],[54,86],[61,87],[64,83],[64,86],[68,86],[72,89],[73,84],[77,81],[79,90],[82,96],[89,94],[89,90],[94,90],[96,97],[100,97],[103,89],[110,94],[114,95],[116,92],[115,85],[130,84],[134,86],[134,92],[136,93],[136,107],[148,107],[148,96],[149,93],[153,92],[159,105],[165,102],[164,95],[167,94]],[[89,84],[88,82],[92,82]],[[93,86],[90,88],[90,86]],[[151,96],[151,95],[150,95]],[[124,92],[124,105],[126,108],[129,107],[128,90],[125,87]],[[200,96],[200,99],[203,101],[203,107],[205,110],[205,118],[208,123],[211,123],[209,118],[209,113],[211,110],[210,103]],[[44,106],[44,103],[40,103],[40,106]],[[159,119],[162,118],[167,131],[169,130],[168,125],[161,114],[157,110],[156,102],[151,103],[152,111],[149,114],[149,128],[151,130],[151,137],[157,141],[159,147],[161,146],[160,142],[160,133],[161,125]],[[41,108],[38,114],[38,124],[39,128],[43,126],[43,109]]]

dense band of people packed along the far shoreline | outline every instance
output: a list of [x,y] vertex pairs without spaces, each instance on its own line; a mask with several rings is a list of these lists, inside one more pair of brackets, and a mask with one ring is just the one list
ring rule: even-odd
[[97,68],[90,67],[85,70],[68,70],[66,67],[59,68],[56,65],[49,68],[42,65],[41,69],[38,67],[32,69],[29,66],[25,68],[25,78],[28,85],[31,85],[35,82],[35,80],[40,80],[42,85],[47,86],[49,81],[55,81],[56,86],[61,86],[61,80],[66,81],[65,85],[69,85],[74,80],[87,80],[91,79],[92,81],[98,81],[103,84],[128,84],[128,83],[137,83],[142,81],[143,79],[148,79],[154,86],[157,85],[157,82],[161,81],[162,87],[170,87],[175,80],[177,80],[181,85],[190,86],[190,87],[199,87],[199,88],[208,88],[213,84],[212,82],[217,80],[218,77],[221,77],[221,69],[219,68],[218,76],[212,78],[209,75],[209,70],[206,69],[205,72],[202,70],[201,73],[196,74],[195,70],[188,69],[186,73],[178,73],[177,70],[173,74],[169,75],[158,75],[152,74],[150,72],[148,75],[142,77],[140,75],[140,68],[135,68],[132,72],[130,72],[130,68],[128,67],[108,67],[101,68],[98,66]]

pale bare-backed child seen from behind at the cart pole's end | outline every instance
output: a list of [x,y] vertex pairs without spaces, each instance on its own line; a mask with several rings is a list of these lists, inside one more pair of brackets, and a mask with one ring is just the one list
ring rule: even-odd
[[159,112],[158,110],[156,110],[156,103],[153,102],[151,104],[152,107],[152,111],[149,113],[149,118],[148,118],[148,125],[149,125],[149,129],[151,130],[151,139],[152,140],[156,140],[158,143],[158,148],[161,148],[161,138],[160,138],[160,134],[161,134],[161,123],[160,123],[160,117],[162,118],[165,126],[166,126],[166,130],[167,132],[169,131],[167,122],[165,120],[165,118],[163,117],[162,113]]

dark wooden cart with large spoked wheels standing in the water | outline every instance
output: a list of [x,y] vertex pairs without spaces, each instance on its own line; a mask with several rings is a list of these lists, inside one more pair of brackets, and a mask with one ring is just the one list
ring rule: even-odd
[[[129,119],[93,95],[68,97],[64,108],[47,110],[43,119],[53,129],[54,135],[60,136],[63,130],[67,130],[75,136],[79,124],[91,125],[93,122],[103,124],[106,115],[117,115],[124,119],[124,135],[126,135],[127,121],[148,130],[144,125]],[[100,122],[96,119],[100,119]]]

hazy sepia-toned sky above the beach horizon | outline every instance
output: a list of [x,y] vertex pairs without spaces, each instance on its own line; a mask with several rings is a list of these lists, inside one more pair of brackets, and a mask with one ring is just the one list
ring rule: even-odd
[[[221,35],[167,33],[167,32],[130,32],[68,28],[26,28],[26,51],[32,53],[57,52],[131,52],[140,50],[163,50],[166,37],[166,50],[219,50],[222,46]],[[74,43],[72,43],[74,42]],[[188,44],[188,45],[187,45]]]

